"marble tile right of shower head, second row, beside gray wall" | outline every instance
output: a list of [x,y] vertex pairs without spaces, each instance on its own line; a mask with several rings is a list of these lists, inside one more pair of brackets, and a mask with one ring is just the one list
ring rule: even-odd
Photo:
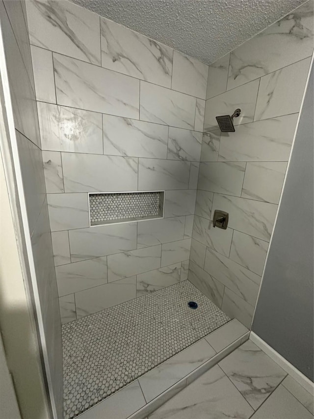
[[254,120],[300,111],[311,57],[261,78]]

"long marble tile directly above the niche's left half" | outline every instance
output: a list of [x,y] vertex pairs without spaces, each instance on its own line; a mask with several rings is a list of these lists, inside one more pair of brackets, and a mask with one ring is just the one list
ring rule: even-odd
[[65,192],[137,190],[136,158],[80,153],[61,155]]

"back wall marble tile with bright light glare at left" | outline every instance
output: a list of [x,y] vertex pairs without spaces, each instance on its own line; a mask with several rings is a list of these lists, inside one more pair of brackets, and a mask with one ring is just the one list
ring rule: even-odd
[[43,150],[103,154],[100,113],[43,102],[37,110]]

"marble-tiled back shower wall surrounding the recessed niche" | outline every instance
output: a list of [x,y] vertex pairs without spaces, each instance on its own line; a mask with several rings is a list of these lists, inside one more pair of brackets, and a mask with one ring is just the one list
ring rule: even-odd
[[[71,2],[26,8],[65,323],[187,279],[208,65]],[[89,226],[88,192],[128,191],[165,191],[164,218]]]

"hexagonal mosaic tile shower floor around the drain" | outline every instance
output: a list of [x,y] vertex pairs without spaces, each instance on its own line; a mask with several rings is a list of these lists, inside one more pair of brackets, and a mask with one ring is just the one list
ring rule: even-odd
[[[193,310],[188,301],[198,303]],[[65,419],[74,418],[230,318],[188,280],[62,326]]]

